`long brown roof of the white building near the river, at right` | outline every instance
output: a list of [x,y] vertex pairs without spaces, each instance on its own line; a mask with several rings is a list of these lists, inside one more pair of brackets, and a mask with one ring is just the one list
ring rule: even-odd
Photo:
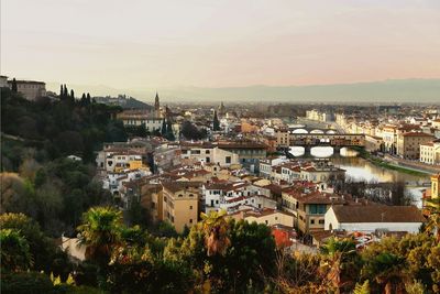
[[339,222],[424,222],[416,206],[332,206]]

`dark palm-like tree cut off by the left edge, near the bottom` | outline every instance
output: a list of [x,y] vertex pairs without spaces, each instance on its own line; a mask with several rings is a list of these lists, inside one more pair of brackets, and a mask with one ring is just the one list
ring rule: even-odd
[[1,266],[10,271],[25,271],[32,265],[29,243],[18,230],[1,229]]

